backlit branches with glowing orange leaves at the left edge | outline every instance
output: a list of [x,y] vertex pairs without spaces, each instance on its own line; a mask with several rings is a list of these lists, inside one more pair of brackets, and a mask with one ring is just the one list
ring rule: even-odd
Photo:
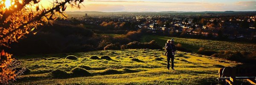
[[[10,43],[17,42],[30,32],[36,34],[34,29],[45,24],[52,24],[57,17],[66,19],[67,16],[63,11],[67,6],[80,8],[83,1],[55,0],[47,8],[39,5],[40,0],[0,1],[0,46],[9,47]],[[12,60],[11,54],[2,51],[0,54],[0,83],[8,83],[17,77],[12,63],[14,60]]]

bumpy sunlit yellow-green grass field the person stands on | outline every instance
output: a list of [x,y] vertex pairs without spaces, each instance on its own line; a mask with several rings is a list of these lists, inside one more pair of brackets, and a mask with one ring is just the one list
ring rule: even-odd
[[[175,40],[177,39],[175,38]],[[22,66],[31,71],[11,84],[210,85],[218,84],[216,78],[219,68],[238,64],[228,60],[177,51],[175,55],[176,70],[173,71],[166,69],[164,52],[150,49],[128,49],[27,55],[18,58],[22,62]],[[65,59],[67,55],[74,55],[78,59]],[[95,56],[98,56],[99,59],[96,59]],[[92,57],[94,59],[91,59]],[[74,68],[82,68],[83,70],[80,70],[79,74],[83,74],[83,76],[70,76],[77,74],[77,71],[73,71]],[[53,71],[57,69],[67,72],[66,74],[57,73],[65,78],[56,78],[56,72]]]

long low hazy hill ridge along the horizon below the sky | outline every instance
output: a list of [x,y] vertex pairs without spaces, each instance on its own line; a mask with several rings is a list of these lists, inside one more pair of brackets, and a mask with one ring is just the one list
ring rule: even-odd
[[67,11],[66,14],[256,14],[256,11],[160,11],[160,12],[100,12],[100,11]]

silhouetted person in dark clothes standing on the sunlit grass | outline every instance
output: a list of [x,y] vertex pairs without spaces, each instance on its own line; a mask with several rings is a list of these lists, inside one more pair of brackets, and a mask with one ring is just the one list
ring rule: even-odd
[[168,40],[167,43],[166,43],[166,53],[167,53],[167,69],[169,70],[170,69],[170,59],[172,61],[172,70],[175,70],[174,69],[174,55],[175,55],[175,51],[176,51],[176,48],[175,48],[175,45],[174,45],[174,40]]

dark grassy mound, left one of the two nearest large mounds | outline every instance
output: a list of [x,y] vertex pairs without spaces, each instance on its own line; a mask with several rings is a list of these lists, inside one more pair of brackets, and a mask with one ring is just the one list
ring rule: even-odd
[[66,71],[56,69],[51,72],[53,78],[58,78],[58,79],[64,79],[70,77],[70,74],[68,74]]

